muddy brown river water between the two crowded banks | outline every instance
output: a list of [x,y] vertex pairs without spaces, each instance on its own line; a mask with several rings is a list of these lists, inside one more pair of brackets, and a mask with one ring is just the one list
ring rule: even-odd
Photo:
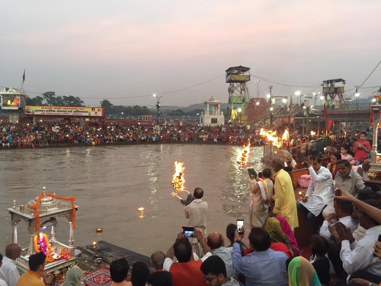
[[[150,255],[164,253],[186,225],[183,206],[170,195],[174,161],[184,162],[185,187],[204,190],[208,202],[207,232],[226,234],[228,223],[245,220],[249,178],[237,170],[239,147],[163,144],[2,150],[0,152],[0,252],[11,243],[13,199],[26,205],[41,193],[75,196],[75,246],[104,240]],[[263,147],[252,147],[249,165],[262,170]],[[180,193],[185,197],[185,193]],[[136,209],[144,207],[141,215]],[[67,244],[68,223],[57,218],[57,239]],[[102,227],[102,233],[95,229]],[[18,242],[29,245],[26,224],[18,225]]]

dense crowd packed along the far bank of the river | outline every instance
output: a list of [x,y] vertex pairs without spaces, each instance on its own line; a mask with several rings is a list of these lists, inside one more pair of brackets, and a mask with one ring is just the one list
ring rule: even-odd
[[112,143],[187,143],[206,142],[243,145],[250,140],[252,146],[263,145],[258,130],[246,126],[202,126],[200,124],[162,125],[160,132],[152,125],[109,124],[98,122],[48,122],[32,121],[16,124],[0,122],[2,148],[42,148],[51,145],[105,145]]

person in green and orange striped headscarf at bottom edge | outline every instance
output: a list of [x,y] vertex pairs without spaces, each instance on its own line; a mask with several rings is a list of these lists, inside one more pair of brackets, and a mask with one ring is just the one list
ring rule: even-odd
[[287,259],[286,269],[289,286],[322,286],[315,268],[302,256]]

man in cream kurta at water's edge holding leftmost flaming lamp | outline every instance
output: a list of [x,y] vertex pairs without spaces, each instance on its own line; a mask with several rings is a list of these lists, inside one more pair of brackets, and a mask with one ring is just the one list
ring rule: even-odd
[[[194,227],[195,230],[200,230],[204,237],[207,237],[207,211],[208,203],[202,201],[204,191],[202,188],[195,188],[193,197],[195,198],[189,205],[184,207],[184,214],[188,219],[187,227]],[[203,256],[202,248],[196,238],[189,238],[192,244],[192,250],[198,257]]]

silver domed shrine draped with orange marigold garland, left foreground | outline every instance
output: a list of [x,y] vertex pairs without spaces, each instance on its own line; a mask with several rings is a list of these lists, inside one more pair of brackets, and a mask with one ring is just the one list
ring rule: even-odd
[[[53,195],[55,196],[55,193]],[[53,197],[48,196],[46,194],[46,188],[43,187],[42,198],[40,203],[37,205],[37,210],[40,217],[40,231],[37,231],[37,217],[34,210],[30,208],[30,206],[36,204],[37,200],[38,197],[35,200],[28,202],[25,207],[20,206],[19,209],[16,209],[16,201],[13,200],[13,207],[8,209],[9,213],[11,214],[11,224],[13,228],[12,243],[18,243],[17,227],[18,223],[21,220],[26,222],[26,227],[30,234],[29,247],[22,249],[21,256],[16,259],[16,267],[20,273],[24,273],[29,269],[28,259],[31,254],[36,253],[35,243],[37,239],[45,243],[45,238],[47,238],[50,244],[50,261],[47,258],[45,272],[52,272],[53,270],[61,269],[63,267],[68,267],[75,264],[73,225],[74,211],[72,204],[70,202],[66,202],[61,199],[54,199]],[[75,210],[77,209],[78,206],[75,206]],[[67,219],[67,222],[69,222],[69,245],[57,241],[57,220],[55,217],[64,217]],[[64,257],[68,259],[65,259]]]

